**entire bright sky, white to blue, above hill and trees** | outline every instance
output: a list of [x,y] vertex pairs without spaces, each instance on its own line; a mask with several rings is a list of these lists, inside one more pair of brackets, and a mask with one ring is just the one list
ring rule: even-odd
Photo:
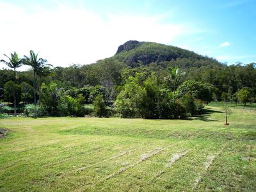
[[256,0],[0,0],[0,26],[1,59],[33,49],[54,66],[88,64],[139,40],[256,62]]

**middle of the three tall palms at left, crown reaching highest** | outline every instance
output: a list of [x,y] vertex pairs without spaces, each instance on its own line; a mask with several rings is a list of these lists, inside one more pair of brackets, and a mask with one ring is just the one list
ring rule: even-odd
[[42,58],[38,59],[38,54],[35,54],[34,51],[29,51],[29,56],[24,55],[23,63],[25,65],[29,65],[33,68],[34,76],[33,76],[33,90],[34,90],[34,102],[36,105],[36,88],[35,88],[35,81],[36,81],[36,74],[40,70],[40,67],[44,66],[47,60]]

